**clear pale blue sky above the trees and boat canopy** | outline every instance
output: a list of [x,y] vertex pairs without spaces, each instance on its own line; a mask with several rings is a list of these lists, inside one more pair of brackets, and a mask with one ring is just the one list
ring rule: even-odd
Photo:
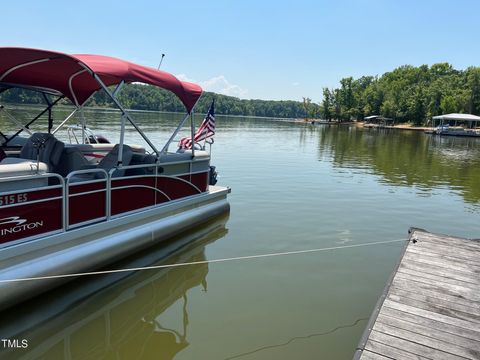
[[477,0],[5,1],[0,46],[115,56],[243,99],[320,101],[340,79],[480,66]]

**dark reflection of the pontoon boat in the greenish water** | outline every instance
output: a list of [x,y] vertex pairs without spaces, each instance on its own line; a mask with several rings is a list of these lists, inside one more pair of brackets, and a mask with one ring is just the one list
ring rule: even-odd
[[[116,263],[109,269],[205,261],[226,235],[228,215]],[[208,264],[86,276],[0,313],[0,335],[28,347],[0,349],[22,359],[173,359],[188,343],[188,290],[207,288]],[[179,311],[179,309],[181,309]],[[160,315],[174,311],[175,326]]]

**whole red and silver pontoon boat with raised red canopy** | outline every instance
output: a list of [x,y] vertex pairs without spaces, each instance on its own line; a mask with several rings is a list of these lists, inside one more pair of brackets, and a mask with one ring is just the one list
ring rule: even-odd
[[[118,91],[129,82],[169,90],[185,105],[186,116],[162,148],[118,102]],[[197,138],[192,109],[202,93],[198,85],[112,57],[0,48],[0,93],[16,87],[39,91],[46,108],[22,124],[0,105],[19,127],[12,136],[0,131],[0,309],[71,279],[55,275],[98,269],[229,210],[230,189],[214,186],[205,143],[169,151],[188,119],[191,138]],[[99,90],[120,110],[118,142],[85,143],[85,133],[80,144],[58,140],[55,134],[77,111],[80,131],[86,129],[83,106]],[[51,110],[65,98],[74,111],[54,128]],[[48,132],[33,133],[31,124],[46,113]],[[127,121],[148,152],[126,144]],[[29,134],[26,143],[12,146],[22,132]],[[97,147],[109,151],[92,165],[84,154]],[[36,277],[49,278],[8,281]]]

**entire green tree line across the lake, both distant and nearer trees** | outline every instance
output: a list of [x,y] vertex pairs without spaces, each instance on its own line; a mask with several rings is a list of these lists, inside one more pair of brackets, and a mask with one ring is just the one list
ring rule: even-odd
[[[480,67],[456,70],[448,63],[418,67],[404,65],[381,76],[346,77],[338,88],[323,88],[320,104],[308,97],[303,101],[245,100],[205,92],[197,112],[208,109],[216,100],[216,113],[223,115],[275,118],[317,118],[327,120],[363,120],[369,115],[392,118],[396,123],[426,124],[432,116],[447,113],[480,115]],[[118,94],[128,109],[182,112],[184,107],[169,91],[151,85],[128,84]],[[43,96],[26,89],[0,93],[0,101],[20,104],[44,104]],[[65,100],[65,103],[68,101]],[[98,91],[87,104],[114,107],[104,91]]]

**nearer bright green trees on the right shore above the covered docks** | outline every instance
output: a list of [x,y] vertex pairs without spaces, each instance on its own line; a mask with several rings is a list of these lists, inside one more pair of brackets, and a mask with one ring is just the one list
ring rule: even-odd
[[338,88],[323,88],[321,105],[325,119],[339,121],[381,115],[422,125],[435,115],[480,115],[480,68],[404,65],[380,77],[346,77]]

